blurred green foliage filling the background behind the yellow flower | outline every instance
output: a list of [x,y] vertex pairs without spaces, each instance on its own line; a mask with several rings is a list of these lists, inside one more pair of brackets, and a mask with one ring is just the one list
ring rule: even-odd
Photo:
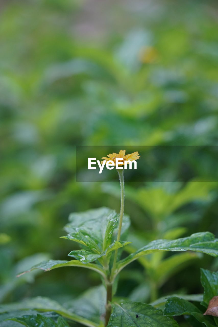
[[[15,277],[69,258],[74,244],[59,236],[71,212],[119,212],[118,182],[76,182],[76,145],[217,144],[217,16],[212,0],[0,2],[0,301],[63,303],[99,284],[79,268]],[[218,236],[217,198],[216,181],[126,183],[132,247]],[[218,266],[206,256],[182,264],[150,276],[153,298],[202,292],[199,267]],[[122,272],[119,296],[149,301],[145,266]]]

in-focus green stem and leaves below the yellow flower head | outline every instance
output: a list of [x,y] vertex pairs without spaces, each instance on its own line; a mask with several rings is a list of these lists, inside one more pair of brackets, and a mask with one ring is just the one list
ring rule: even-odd
[[[0,307],[0,311],[3,313],[2,320],[13,320],[28,327],[37,326],[39,323],[40,326],[45,327],[67,326],[65,320],[60,317],[55,316],[54,319],[51,319],[47,314],[39,315],[38,311],[41,311],[56,312],[64,318],[90,327],[104,325],[109,327],[178,326],[177,322],[170,317],[174,315],[170,313],[170,310],[166,311],[165,309],[164,315],[163,311],[155,306],[127,299],[116,299],[114,294],[119,274],[131,262],[137,259],[145,260],[144,257],[151,253],[161,255],[165,251],[195,251],[217,257],[218,240],[214,239],[214,235],[210,232],[195,233],[189,237],[175,240],[158,239],[121,259],[122,249],[131,242],[121,240],[121,238],[125,239],[130,222],[128,216],[124,215],[123,170],[118,170],[118,174],[121,186],[120,215],[106,207],[71,214],[70,222],[65,226],[68,234],[63,238],[80,244],[80,250],[73,250],[68,254],[74,260],[43,261],[25,271],[29,272],[36,268],[48,271],[59,267],[84,267],[97,272],[103,286],[92,289],[90,293],[86,293],[77,301],[70,302],[65,306],[41,297],[19,303],[3,304]],[[103,297],[106,301],[102,300]],[[97,299],[101,304],[105,302],[105,309],[101,305],[97,307],[97,310],[96,307],[93,309],[90,305],[93,299]],[[171,302],[168,301],[167,304],[171,308]]]

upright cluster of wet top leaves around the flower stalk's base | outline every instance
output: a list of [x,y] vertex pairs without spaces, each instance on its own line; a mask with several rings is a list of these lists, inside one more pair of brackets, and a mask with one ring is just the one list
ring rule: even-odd
[[[81,244],[85,249],[71,251],[69,256],[90,263],[103,256],[110,258],[111,252],[122,248],[130,242],[115,241],[119,216],[106,207],[92,209],[70,215],[70,223],[65,226],[66,238]],[[122,234],[129,227],[129,219],[124,217]]]

